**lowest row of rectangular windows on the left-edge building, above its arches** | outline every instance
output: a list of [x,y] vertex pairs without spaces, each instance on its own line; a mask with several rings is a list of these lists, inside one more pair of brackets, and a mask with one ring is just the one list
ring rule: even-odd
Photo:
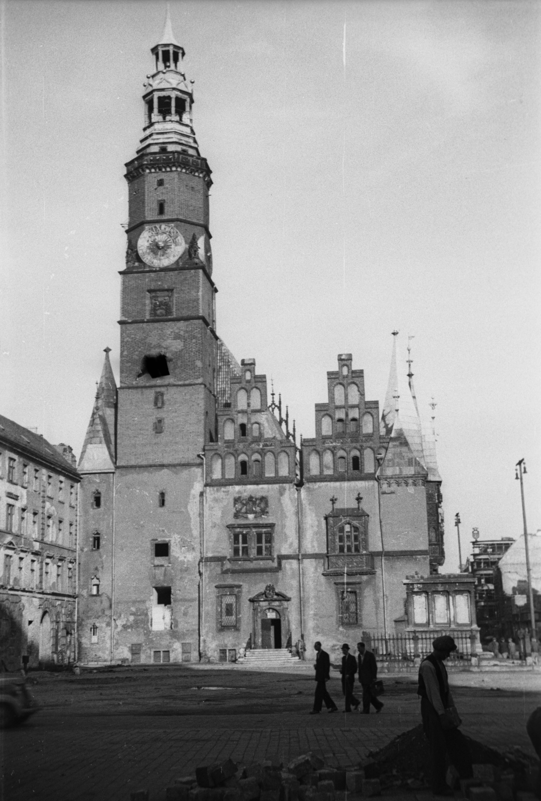
[[[37,558],[11,553],[4,553],[2,584],[6,587],[18,587],[21,590],[39,590],[40,562]],[[74,593],[74,565],[72,562],[43,562],[41,579],[42,592]]]

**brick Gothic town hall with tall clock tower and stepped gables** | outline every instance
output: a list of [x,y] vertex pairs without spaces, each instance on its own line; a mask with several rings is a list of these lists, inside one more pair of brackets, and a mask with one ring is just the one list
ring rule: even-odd
[[[411,360],[397,369],[395,336],[380,421],[363,370],[339,354],[315,437],[297,445],[255,360],[216,331],[211,171],[169,19],[151,52],[126,164],[120,384],[106,348],[78,465],[81,659],[219,661],[300,639],[338,654],[390,637],[407,622],[406,577],[444,559]],[[474,614],[461,606],[455,626],[471,631]]]

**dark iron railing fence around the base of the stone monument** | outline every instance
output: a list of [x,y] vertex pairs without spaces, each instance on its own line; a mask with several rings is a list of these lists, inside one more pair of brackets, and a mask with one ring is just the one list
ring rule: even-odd
[[436,637],[450,635],[456,643],[447,664],[471,661],[475,655],[475,634],[469,631],[431,630],[407,632],[407,634],[387,634],[381,631],[363,631],[363,640],[368,650],[373,651],[376,658],[385,662],[413,662],[416,657],[424,658],[432,652],[432,641]]

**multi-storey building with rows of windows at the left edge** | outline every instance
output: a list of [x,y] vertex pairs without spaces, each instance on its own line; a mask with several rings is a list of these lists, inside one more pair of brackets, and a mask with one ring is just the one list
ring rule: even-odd
[[79,481],[68,445],[0,415],[0,670],[74,662]]

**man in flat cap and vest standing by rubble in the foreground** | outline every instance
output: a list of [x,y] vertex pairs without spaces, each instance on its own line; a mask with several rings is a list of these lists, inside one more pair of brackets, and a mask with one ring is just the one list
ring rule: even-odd
[[447,670],[443,661],[456,650],[452,637],[437,637],[433,651],[423,659],[419,668],[419,689],[423,730],[430,743],[432,763],[432,792],[434,795],[453,795],[445,781],[446,751],[461,779],[473,776],[467,740],[459,731],[461,720],[449,690]]

